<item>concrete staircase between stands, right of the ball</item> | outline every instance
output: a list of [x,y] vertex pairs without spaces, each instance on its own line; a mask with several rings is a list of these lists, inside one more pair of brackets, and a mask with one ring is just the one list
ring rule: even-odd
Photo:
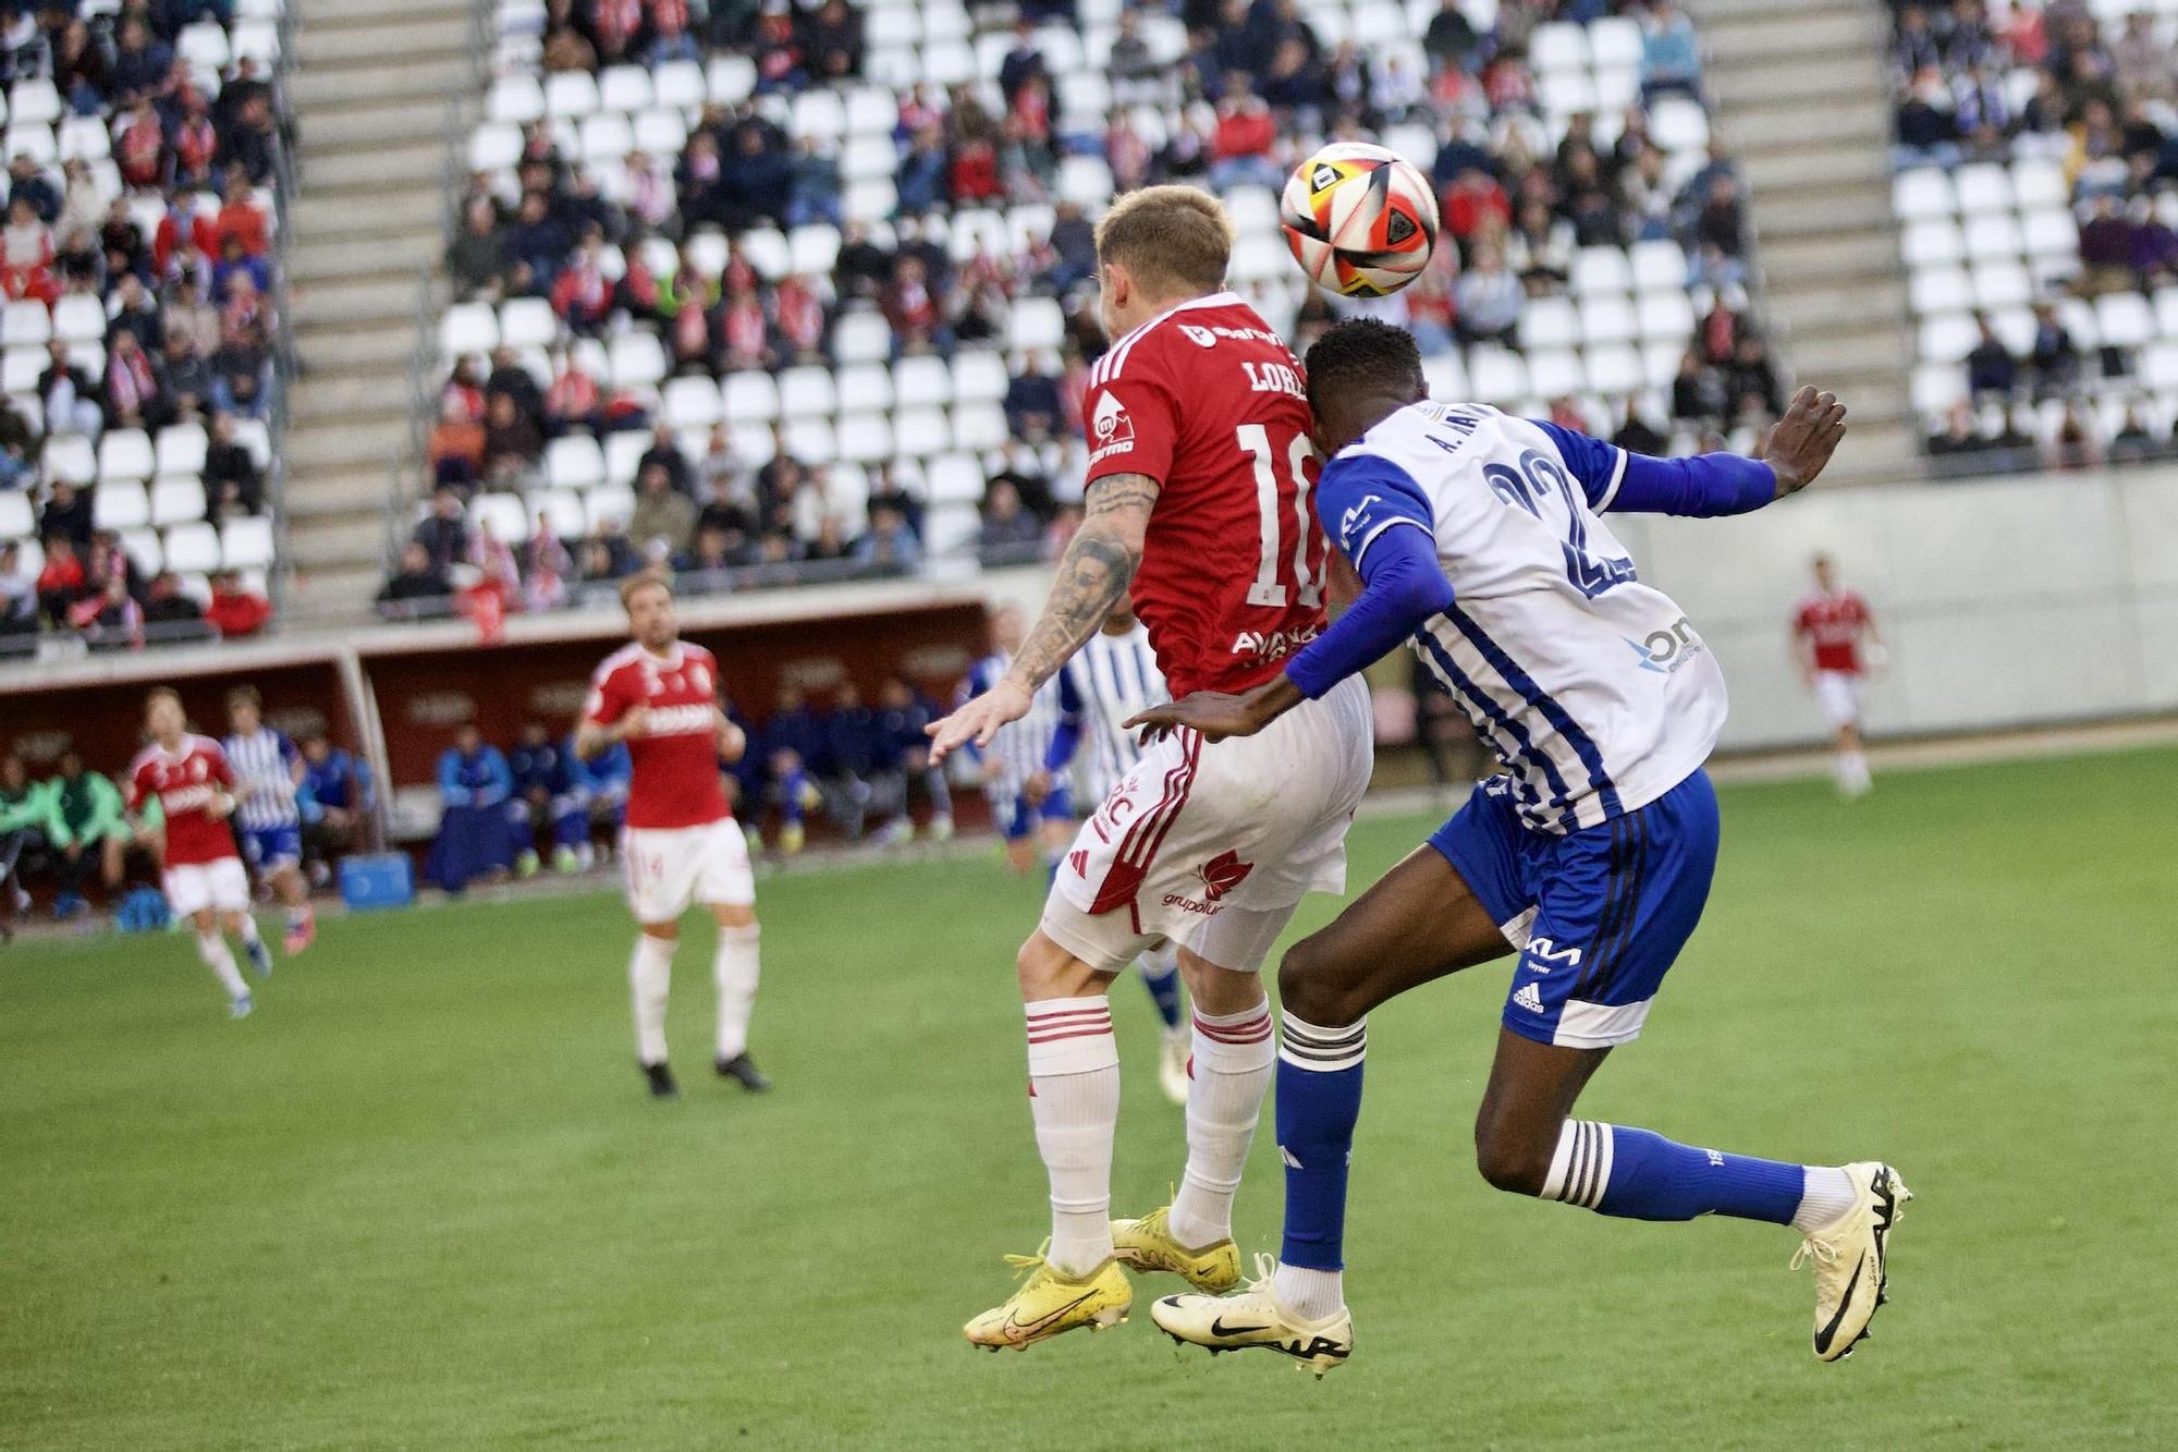
[[[1919,477],[1912,318],[1891,211],[1888,11],[1875,0],[1688,0],[1716,144],[1749,190],[1760,299],[1795,384],[1851,410],[1840,480]],[[1827,477],[1827,475],[1825,475]]]

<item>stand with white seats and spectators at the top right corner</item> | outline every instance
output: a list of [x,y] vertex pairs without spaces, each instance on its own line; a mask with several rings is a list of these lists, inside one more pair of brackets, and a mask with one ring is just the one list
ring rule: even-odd
[[1899,7],[1893,205],[1945,473],[2165,456],[2178,7]]

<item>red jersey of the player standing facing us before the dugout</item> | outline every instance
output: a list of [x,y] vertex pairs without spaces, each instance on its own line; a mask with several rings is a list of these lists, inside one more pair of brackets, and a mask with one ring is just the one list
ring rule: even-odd
[[686,641],[669,656],[623,645],[590,676],[582,715],[612,726],[638,704],[649,706],[651,717],[627,739],[634,763],[627,824],[701,826],[730,815],[719,781],[719,661]]

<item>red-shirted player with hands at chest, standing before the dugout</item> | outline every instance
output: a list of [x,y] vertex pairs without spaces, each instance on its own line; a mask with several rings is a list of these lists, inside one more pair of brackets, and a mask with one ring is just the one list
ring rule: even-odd
[[636,1007],[636,1062],[651,1094],[680,1092],[666,1066],[666,992],[680,918],[701,903],[719,922],[712,979],[719,985],[719,1040],[712,1064],[725,1079],[762,1092],[771,1081],[749,1060],[756,1009],[756,876],[749,844],[725,802],[721,761],[747,750],[741,728],[719,706],[719,661],[680,639],[673,586],[664,576],[621,582],[629,645],[590,676],[590,700],[575,726],[575,754],[595,761],[621,741],[634,778],[621,828],[627,905],[636,913],[636,953],[627,983]]

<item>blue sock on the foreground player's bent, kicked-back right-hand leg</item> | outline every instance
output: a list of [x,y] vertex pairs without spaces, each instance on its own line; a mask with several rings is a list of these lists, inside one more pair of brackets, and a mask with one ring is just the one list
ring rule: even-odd
[[1544,1199],[1631,1221],[1729,1214],[1790,1225],[1808,1171],[1779,1160],[1675,1145],[1649,1129],[1568,1118],[1542,1186]]

